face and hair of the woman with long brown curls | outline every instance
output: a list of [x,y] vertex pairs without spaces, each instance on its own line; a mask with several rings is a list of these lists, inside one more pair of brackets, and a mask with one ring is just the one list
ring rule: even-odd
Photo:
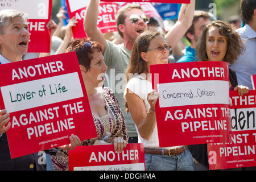
[[[213,45],[213,43],[218,44]],[[210,49],[209,46],[220,46],[220,48]],[[243,51],[245,47],[240,35],[229,23],[221,20],[215,20],[205,27],[196,46],[196,55],[200,61],[225,61],[233,64]]]

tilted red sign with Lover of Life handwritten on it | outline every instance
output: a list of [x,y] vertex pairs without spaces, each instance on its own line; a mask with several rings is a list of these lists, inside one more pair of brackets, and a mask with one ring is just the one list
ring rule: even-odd
[[97,137],[75,52],[2,64],[0,77],[11,158]]

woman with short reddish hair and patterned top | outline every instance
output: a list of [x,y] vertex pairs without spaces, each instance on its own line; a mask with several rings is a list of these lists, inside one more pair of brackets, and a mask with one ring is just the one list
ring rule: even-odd
[[[98,144],[114,144],[114,150],[121,152],[128,142],[127,127],[123,113],[118,105],[114,93],[110,88],[102,87],[106,64],[102,55],[102,46],[90,39],[74,39],[66,52],[75,51],[90,109],[92,110],[94,124],[98,136],[84,140],[83,146]],[[86,118],[85,122],[86,122]],[[108,143],[104,138],[108,138]],[[54,170],[68,170],[68,151],[60,150],[56,155],[51,155]]]

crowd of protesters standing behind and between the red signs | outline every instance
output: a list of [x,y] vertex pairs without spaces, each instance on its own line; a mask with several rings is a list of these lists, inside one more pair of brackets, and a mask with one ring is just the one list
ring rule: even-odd
[[[213,20],[206,11],[195,10],[195,0],[182,4],[179,18],[166,31],[141,6],[129,4],[118,10],[118,32],[102,34],[97,27],[99,0],[90,0],[85,11],[84,31],[88,38],[73,39],[70,17],[64,26],[64,9],[47,23],[51,30],[51,52],[27,53],[26,14],[16,10],[0,11],[0,64],[75,51],[92,110],[97,138],[81,141],[76,135],[70,144],[46,151],[46,164],[38,163],[38,154],[11,159],[6,131],[10,129],[8,110],[0,110],[0,170],[68,170],[68,151],[76,146],[113,144],[120,152],[127,143],[143,143],[146,170],[209,170],[207,144],[159,147],[155,104],[159,93],[152,90],[150,65],[195,61],[229,63],[230,90],[241,95],[252,88],[256,75],[256,2],[241,1],[240,18],[228,22]],[[241,24],[245,24],[242,26]],[[190,46],[184,46],[182,38]],[[21,44],[22,43],[22,44]],[[115,75],[110,74],[115,70]],[[98,79],[98,75],[126,75],[125,88]],[[130,75],[134,75],[130,77]],[[113,92],[111,86],[117,92]],[[104,137],[108,136],[108,142]],[[169,155],[171,152],[171,156]],[[243,168],[240,168],[243,170]],[[254,169],[254,168],[250,168]]]

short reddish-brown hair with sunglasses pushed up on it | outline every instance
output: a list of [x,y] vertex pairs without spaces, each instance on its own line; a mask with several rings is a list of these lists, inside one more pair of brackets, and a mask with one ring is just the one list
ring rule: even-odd
[[[86,42],[90,42],[92,47],[85,46]],[[72,40],[66,52],[76,52],[77,59],[80,65],[85,67],[85,71],[90,69],[90,61],[93,59],[93,53],[95,51],[102,52],[102,45],[98,42],[90,41],[90,38],[81,38]]]

